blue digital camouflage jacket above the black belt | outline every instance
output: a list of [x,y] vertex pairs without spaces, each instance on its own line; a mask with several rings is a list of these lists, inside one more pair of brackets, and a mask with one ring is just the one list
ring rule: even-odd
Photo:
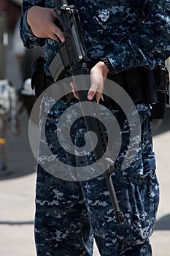
[[[85,45],[91,58],[107,56],[115,69],[150,69],[170,56],[169,0],[71,1],[80,12]],[[39,39],[31,32],[26,15],[33,5],[55,8],[53,0],[23,0],[20,34],[27,48],[45,45],[45,70],[58,51],[58,42]]]

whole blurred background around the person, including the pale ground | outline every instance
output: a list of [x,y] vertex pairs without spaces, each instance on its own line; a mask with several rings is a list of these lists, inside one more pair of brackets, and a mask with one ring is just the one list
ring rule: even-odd
[[[43,48],[26,50],[20,41],[20,0],[0,0],[0,255],[35,256],[34,191],[36,160],[28,141],[34,105],[31,62]],[[170,67],[166,61],[167,67]],[[169,68],[170,69],[170,68]],[[170,242],[170,108],[163,121],[152,121],[161,187],[158,220],[151,241],[153,256],[168,256]],[[94,255],[98,255],[95,246]],[[137,255],[136,255],[137,256]]]

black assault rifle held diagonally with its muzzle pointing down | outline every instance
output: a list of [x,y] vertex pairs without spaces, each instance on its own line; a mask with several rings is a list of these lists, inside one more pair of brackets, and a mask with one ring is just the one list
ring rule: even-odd
[[[52,63],[50,64],[50,72],[53,75],[54,81],[60,80],[63,72],[66,69],[70,69],[72,72],[72,78],[74,81],[75,88],[80,101],[80,106],[82,110],[82,116],[85,119],[85,124],[88,131],[96,132],[98,137],[97,145],[94,146],[93,140],[90,138],[90,143],[93,146],[93,153],[96,161],[99,161],[103,156],[107,148],[107,138],[104,136],[104,129],[101,126],[100,121],[97,121],[97,116],[99,116],[98,109],[95,107],[96,118],[85,115],[87,113],[87,108],[91,108],[85,105],[85,110],[83,108],[82,102],[87,101],[87,91],[90,89],[90,79],[89,72],[87,68],[87,55],[85,50],[85,44],[82,37],[82,30],[80,27],[80,18],[78,11],[74,9],[73,5],[68,5],[66,0],[55,1],[56,4],[56,25],[60,27],[63,31],[65,37],[65,42],[60,43],[60,48],[58,53],[54,57]],[[80,80],[81,79],[81,80]],[[79,84],[83,84],[83,89],[79,90]],[[95,101],[96,99],[93,99]],[[96,104],[95,104],[96,106]],[[115,212],[115,218],[117,225],[123,224],[123,214],[120,211],[117,197],[115,194],[115,189],[112,183],[111,174],[115,170],[115,165],[112,159],[108,156],[101,161],[101,165],[104,168],[104,177],[107,182],[107,187],[109,189],[109,194],[112,200],[112,206]],[[107,169],[106,169],[107,167]]]

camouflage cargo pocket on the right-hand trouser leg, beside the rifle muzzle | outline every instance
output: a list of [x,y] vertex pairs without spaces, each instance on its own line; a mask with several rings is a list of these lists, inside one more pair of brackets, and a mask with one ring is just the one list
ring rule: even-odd
[[128,174],[120,195],[125,225],[120,226],[123,244],[143,244],[152,234],[159,203],[159,185],[155,170]]

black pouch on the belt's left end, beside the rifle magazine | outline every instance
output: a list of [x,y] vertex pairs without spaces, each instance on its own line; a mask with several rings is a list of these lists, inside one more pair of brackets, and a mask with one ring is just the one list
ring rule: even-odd
[[35,89],[36,99],[47,89],[46,77],[44,72],[45,59],[39,56],[31,66],[31,88]]

